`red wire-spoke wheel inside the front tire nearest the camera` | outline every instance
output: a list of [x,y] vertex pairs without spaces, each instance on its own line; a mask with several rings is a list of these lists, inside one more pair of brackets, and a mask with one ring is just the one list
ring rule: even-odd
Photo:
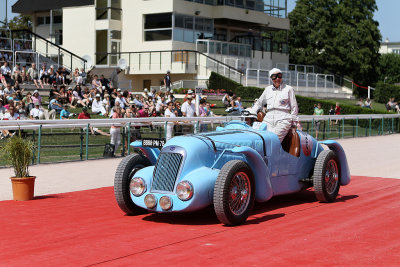
[[229,209],[235,215],[241,215],[250,202],[251,184],[249,176],[244,172],[237,172],[229,185]]

